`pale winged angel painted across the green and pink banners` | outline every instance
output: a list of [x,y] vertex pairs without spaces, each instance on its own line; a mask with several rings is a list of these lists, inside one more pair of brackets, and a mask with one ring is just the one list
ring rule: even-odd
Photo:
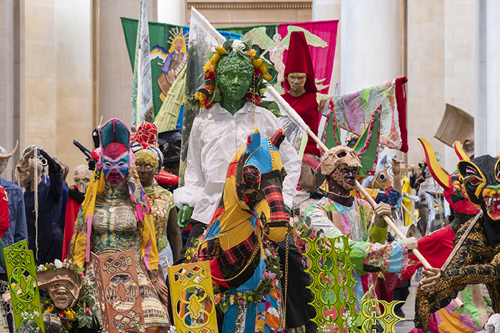
[[[278,72],[277,83],[283,82],[285,77],[285,63],[283,63],[283,53],[288,50],[290,45],[290,34],[294,31],[303,31],[306,35],[306,41],[308,45],[314,46],[316,48],[326,48],[328,43],[323,41],[323,39],[317,37],[312,32],[306,29],[288,26],[288,33],[286,37],[281,39],[281,34],[274,34],[272,39],[266,34],[266,27],[258,27],[250,30],[241,38],[242,41],[252,41],[254,45],[259,46],[264,52],[261,54],[261,59],[268,61],[264,58],[264,54],[269,53],[270,62],[274,65]],[[269,63],[269,61],[268,61]]]

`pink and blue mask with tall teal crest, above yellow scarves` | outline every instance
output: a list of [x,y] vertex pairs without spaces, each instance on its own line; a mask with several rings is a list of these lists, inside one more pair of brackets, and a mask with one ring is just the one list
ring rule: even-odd
[[110,119],[99,129],[101,140],[101,159],[98,168],[112,186],[120,185],[127,170],[134,163],[130,152],[130,130],[117,118]]

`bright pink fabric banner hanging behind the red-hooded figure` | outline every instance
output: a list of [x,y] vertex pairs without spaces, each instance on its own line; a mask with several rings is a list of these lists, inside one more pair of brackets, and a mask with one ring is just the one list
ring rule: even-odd
[[[314,48],[309,46],[311,54],[312,66],[314,67],[314,76],[316,79],[325,79],[321,85],[330,85],[333,70],[333,59],[335,57],[335,46],[337,45],[337,28],[339,20],[332,21],[314,21],[302,23],[282,23],[278,27],[278,32],[281,36],[288,34],[288,26],[297,26],[308,30],[317,37],[323,39],[328,43],[326,48]],[[288,57],[288,50],[283,54],[283,63],[286,63]],[[328,89],[324,88],[319,90],[321,94],[328,94]]]

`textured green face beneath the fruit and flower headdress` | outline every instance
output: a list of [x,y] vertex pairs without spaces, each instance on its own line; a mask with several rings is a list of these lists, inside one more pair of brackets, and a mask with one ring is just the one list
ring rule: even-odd
[[215,79],[221,90],[223,99],[239,101],[248,92],[252,83],[253,65],[250,58],[237,52],[231,52],[223,57],[217,65]]

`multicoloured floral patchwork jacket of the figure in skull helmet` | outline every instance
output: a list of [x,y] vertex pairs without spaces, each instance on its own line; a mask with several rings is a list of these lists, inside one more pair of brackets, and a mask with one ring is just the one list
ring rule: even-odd
[[[374,211],[370,204],[354,198],[351,207],[340,205],[324,197],[306,208],[306,221],[310,228],[323,230],[323,236],[335,238],[350,234],[352,248],[350,261],[356,269],[357,309],[360,299],[374,284],[374,276],[367,272],[395,272],[398,275],[408,266],[408,248],[402,242],[385,244],[386,228],[379,228],[373,222]],[[376,295],[372,294],[376,297]]]

